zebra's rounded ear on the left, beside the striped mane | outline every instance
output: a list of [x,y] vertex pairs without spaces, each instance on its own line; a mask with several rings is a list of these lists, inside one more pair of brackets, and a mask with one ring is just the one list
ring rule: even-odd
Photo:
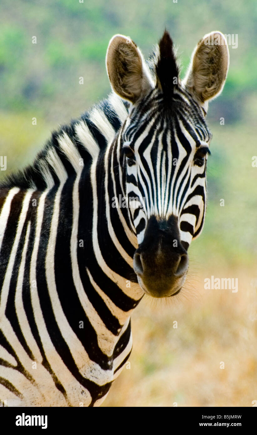
[[154,88],[144,57],[130,37],[112,37],[106,54],[106,68],[114,92],[133,104]]

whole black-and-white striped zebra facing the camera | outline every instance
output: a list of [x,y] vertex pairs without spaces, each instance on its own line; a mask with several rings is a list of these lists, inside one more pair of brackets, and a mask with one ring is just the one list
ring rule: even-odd
[[110,95],[2,181],[7,406],[99,406],[130,356],[134,308],[144,294],[183,288],[206,213],[208,102],[228,65],[217,31],[197,44],[183,80],[167,30],[148,60],[114,35]]

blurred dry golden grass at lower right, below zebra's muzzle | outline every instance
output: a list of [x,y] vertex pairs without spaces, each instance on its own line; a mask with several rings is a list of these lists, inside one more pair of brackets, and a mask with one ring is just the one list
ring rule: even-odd
[[257,400],[257,271],[219,268],[215,277],[238,278],[237,293],[204,290],[211,274],[191,278],[168,301],[143,298],[132,316],[130,369],[102,406],[249,407]]

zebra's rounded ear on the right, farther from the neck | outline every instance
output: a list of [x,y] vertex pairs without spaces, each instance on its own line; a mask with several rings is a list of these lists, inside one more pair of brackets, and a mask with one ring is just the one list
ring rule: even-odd
[[211,32],[195,47],[184,86],[195,100],[207,110],[208,100],[222,91],[229,66],[227,40],[221,32]]

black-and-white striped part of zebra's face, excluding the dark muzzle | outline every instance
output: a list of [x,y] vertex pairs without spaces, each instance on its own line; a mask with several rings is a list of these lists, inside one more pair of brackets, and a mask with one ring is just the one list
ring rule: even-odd
[[151,216],[174,216],[188,248],[204,224],[210,131],[204,112],[186,91],[165,105],[160,91],[134,107],[123,129],[122,152],[131,225],[138,244]]

